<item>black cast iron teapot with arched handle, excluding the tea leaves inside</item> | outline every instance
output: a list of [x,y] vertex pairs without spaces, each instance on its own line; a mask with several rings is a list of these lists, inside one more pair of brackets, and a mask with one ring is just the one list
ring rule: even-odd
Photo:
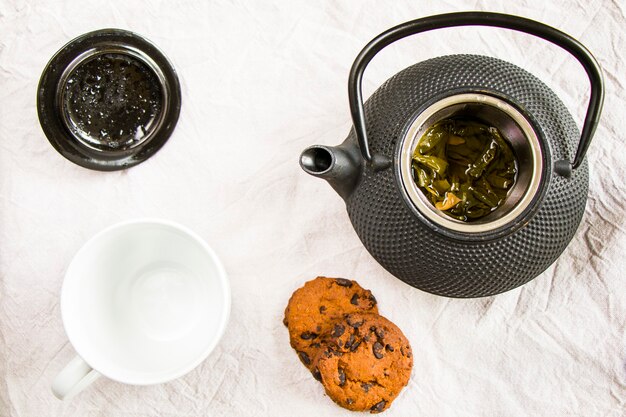
[[[591,82],[582,134],[539,79],[486,56],[420,62],[387,80],[363,105],[363,72],[381,49],[409,35],[466,25],[525,32],[576,57]],[[528,282],[563,252],[585,210],[585,152],[604,98],[600,68],[578,41],[516,16],[431,16],[372,40],[356,58],[348,86],[354,122],[348,138],[336,147],[305,149],[300,165],[327,180],[345,200],[361,241],[390,273],[434,294],[481,297]],[[420,137],[437,122],[455,117],[497,128],[517,161],[515,183],[504,204],[475,221],[437,210],[417,186],[412,169]]]

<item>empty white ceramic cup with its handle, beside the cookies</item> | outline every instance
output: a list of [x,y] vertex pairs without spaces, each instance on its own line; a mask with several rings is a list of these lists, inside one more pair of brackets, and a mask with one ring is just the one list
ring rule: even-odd
[[230,303],[222,264],[191,230],[152,219],[105,229],[65,274],[61,315],[79,356],[52,392],[69,398],[100,375],[134,385],[184,375],[217,345]]

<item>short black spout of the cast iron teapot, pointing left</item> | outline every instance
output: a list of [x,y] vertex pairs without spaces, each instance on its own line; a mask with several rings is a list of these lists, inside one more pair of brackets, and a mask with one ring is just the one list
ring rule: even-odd
[[356,187],[361,172],[361,156],[352,144],[313,145],[300,155],[300,166],[307,174],[328,181],[346,200]]

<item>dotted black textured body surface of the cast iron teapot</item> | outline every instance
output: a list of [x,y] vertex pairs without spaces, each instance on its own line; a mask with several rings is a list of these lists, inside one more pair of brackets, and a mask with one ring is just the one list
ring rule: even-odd
[[[554,163],[573,157],[579,132],[563,103],[539,79],[507,62],[473,55],[434,58],[413,65],[382,85],[365,104],[372,153],[394,158],[415,112],[449,90],[488,89],[510,97],[547,139]],[[347,141],[356,141],[354,130]],[[585,161],[563,178],[550,178],[538,211],[527,224],[491,240],[445,236],[418,218],[401,197],[393,168],[366,167],[346,200],[357,234],[390,273],[421,290],[448,297],[481,297],[518,287],[543,272],[571,241],[585,210]]]

